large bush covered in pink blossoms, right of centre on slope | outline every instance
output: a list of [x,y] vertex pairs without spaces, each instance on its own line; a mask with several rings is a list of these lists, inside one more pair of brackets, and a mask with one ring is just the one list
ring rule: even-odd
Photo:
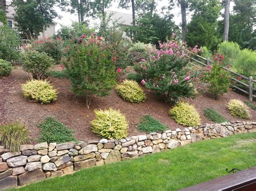
[[159,42],[159,49],[154,47],[149,52],[149,59],[142,60],[136,71],[143,76],[142,83],[147,88],[156,91],[167,102],[177,102],[180,97],[196,94],[194,76],[190,75],[186,66],[191,54],[198,51],[198,47],[191,49],[175,40],[163,44]]

